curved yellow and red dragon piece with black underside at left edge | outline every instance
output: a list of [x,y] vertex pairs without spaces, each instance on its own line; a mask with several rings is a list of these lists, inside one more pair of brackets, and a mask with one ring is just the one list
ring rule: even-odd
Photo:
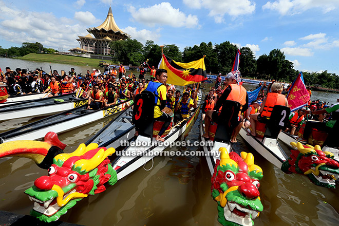
[[21,140],[0,144],[0,158],[9,156],[25,157],[32,159],[41,168],[49,168],[54,156],[63,153],[63,148],[61,147],[66,145],[59,141],[58,135],[55,133],[49,132],[48,134],[48,136],[45,136],[45,142]]

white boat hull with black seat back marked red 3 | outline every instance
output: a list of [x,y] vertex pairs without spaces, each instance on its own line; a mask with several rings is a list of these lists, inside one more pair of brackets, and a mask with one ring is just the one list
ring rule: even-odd
[[143,91],[140,95],[136,96],[134,120],[136,124],[140,123],[140,135],[134,140],[136,145],[127,146],[122,150],[121,155],[112,162],[114,170],[117,171],[118,179],[125,177],[155,156],[160,155],[166,147],[170,146],[172,142],[177,140],[185,130],[194,123],[200,110],[200,89],[197,95],[197,108],[190,113],[188,119],[179,122],[175,126],[172,126],[171,123],[162,136],[165,141],[161,145],[158,145],[158,142],[155,140],[163,122],[154,122],[153,119],[154,94],[149,91]]

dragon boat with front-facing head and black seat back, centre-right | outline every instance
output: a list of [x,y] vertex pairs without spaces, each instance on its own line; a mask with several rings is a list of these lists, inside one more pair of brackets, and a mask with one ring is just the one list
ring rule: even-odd
[[[222,225],[253,225],[253,219],[263,210],[259,198],[259,180],[262,170],[254,164],[251,153],[232,151],[230,145],[231,135],[237,122],[240,104],[234,101],[225,101],[218,124],[210,126],[209,136],[213,145],[204,145],[204,153],[211,179],[211,192],[217,202],[218,221]],[[232,123],[233,122],[233,123]],[[200,138],[202,137],[204,123],[200,121]]]

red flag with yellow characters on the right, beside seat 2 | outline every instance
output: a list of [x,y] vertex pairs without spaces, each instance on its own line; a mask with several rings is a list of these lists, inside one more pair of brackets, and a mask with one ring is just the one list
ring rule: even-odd
[[304,84],[303,72],[298,74],[298,77],[293,82],[288,95],[288,106],[291,111],[297,110],[307,105],[310,101],[310,95]]

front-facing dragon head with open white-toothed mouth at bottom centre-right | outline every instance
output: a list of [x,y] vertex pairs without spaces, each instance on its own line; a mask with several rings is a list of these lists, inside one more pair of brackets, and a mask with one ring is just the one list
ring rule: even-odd
[[212,197],[218,203],[218,221],[222,225],[253,225],[263,210],[258,188],[262,170],[251,153],[228,154],[222,147],[212,182]]

